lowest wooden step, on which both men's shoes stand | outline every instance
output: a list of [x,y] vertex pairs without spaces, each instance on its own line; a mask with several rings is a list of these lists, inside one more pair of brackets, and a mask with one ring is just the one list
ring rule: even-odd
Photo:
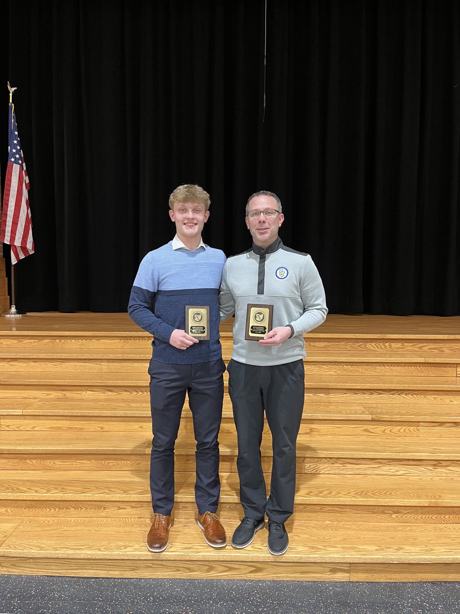
[[[286,523],[289,550],[280,558],[267,551],[266,528],[256,534],[244,551],[231,546],[213,550],[204,543],[190,509],[176,507],[170,543],[161,554],[148,553],[145,538],[147,518],[67,518],[55,516],[10,516],[0,519],[0,561],[4,573],[52,573],[83,577],[190,577],[252,578],[286,580],[348,580],[367,573],[376,580],[388,577],[386,568],[405,565],[411,579],[420,575],[436,578],[442,573],[454,579],[459,574],[460,525],[440,523],[440,516],[416,515],[411,521],[391,508],[337,507],[332,514],[321,507],[295,513]],[[371,513],[374,511],[374,513]],[[237,526],[240,512],[222,506],[220,518],[228,537]],[[360,527],[359,543],[356,526]],[[158,561],[161,560],[161,565]],[[359,567],[361,565],[361,567]],[[366,566],[366,570],[363,567]]]

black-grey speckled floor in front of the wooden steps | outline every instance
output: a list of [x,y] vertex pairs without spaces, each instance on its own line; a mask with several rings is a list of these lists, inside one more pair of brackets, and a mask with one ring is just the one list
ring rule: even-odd
[[0,614],[459,614],[460,583],[0,575]]

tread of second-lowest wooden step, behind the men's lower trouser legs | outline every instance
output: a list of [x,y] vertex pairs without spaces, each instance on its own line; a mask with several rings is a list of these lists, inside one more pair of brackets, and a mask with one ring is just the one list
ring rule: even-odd
[[[269,473],[265,479],[268,488]],[[194,483],[194,472],[176,472],[175,499],[193,502]],[[69,475],[60,470],[2,470],[0,499],[149,502],[148,472],[74,471]],[[239,502],[236,473],[221,475],[221,502]],[[460,483],[457,476],[362,475],[357,480],[347,475],[298,474],[296,506],[310,503],[458,508]]]

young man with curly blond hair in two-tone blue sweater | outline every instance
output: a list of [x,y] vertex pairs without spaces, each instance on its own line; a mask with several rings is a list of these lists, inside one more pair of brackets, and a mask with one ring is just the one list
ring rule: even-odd
[[[218,289],[225,255],[205,245],[201,238],[209,218],[209,194],[199,185],[180,185],[169,197],[169,217],[176,235],[142,260],[129,298],[128,313],[153,335],[150,374],[150,408],[153,442],[150,457],[150,491],[153,522],[147,548],[162,552],[169,542],[174,505],[174,443],[185,394],[193,416],[196,445],[195,499],[197,523],[213,548],[226,545],[223,526],[216,515],[219,495],[219,443],[222,417],[223,373],[219,341]],[[185,332],[186,306],[209,309],[209,325]],[[197,318],[206,317],[199,311]],[[204,324],[204,322],[199,322]],[[208,337],[209,338],[204,338]]]

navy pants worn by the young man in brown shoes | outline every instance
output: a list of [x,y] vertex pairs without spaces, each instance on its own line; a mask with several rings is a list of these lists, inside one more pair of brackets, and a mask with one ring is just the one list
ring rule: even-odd
[[150,361],[153,441],[150,492],[153,511],[170,516],[174,505],[174,444],[188,392],[196,440],[195,499],[199,514],[217,511],[220,495],[218,433],[222,419],[222,359],[193,365]]

